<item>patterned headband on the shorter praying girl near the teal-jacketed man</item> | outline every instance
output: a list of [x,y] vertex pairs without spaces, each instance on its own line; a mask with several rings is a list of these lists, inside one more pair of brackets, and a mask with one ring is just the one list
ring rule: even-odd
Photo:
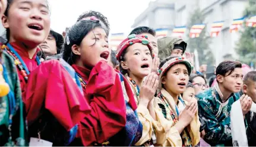
[[159,89],[162,88],[162,80],[161,80],[161,77],[163,76],[163,74],[166,73],[166,71],[174,66],[175,64],[178,64],[178,63],[181,63],[181,64],[185,64],[185,66],[188,68],[188,76],[190,76],[190,74],[192,73],[192,70],[193,70],[193,66],[192,64],[187,60],[185,59],[184,57],[176,57],[176,58],[172,58],[168,61],[166,61],[165,64],[163,64],[163,66],[159,69],[158,71],[158,76],[159,76]]

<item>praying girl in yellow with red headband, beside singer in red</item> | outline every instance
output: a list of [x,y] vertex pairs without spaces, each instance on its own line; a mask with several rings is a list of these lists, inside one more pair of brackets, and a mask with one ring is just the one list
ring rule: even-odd
[[[159,83],[158,76],[151,73],[153,47],[144,35],[129,35],[118,46],[116,58],[121,73],[128,79],[138,106],[138,117],[143,124],[143,136],[135,145],[165,145],[166,139],[179,136],[170,129],[172,123],[165,119],[154,94]],[[169,142],[172,142],[169,139]]]

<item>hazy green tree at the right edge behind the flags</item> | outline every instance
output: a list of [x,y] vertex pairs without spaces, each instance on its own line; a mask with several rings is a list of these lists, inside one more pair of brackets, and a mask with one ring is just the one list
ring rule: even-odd
[[[249,5],[244,10],[244,15],[250,18],[256,15],[256,1],[249,0]],[[246,27],[246,22],[243,24],[243,29],[238,43],[236,44],[236,53],[239,55],[239,60],[242,63],[256,63],[256,28]]]

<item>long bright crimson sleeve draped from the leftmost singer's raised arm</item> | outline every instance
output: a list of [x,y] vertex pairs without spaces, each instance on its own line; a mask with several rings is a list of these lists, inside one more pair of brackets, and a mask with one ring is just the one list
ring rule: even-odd
[[67,130],[90,113],[81,90],[58,60],[45,61],[31,71],[24,93],[29,125],[42,115],[42,107]]

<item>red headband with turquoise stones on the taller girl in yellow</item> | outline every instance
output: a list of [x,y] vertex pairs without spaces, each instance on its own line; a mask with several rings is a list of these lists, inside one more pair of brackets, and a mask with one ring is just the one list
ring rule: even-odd
[[[130,45],[135,43],[141,43],[141,44],[147,45],[150,51],[153,50],[153,45],[147,40],[147,35],[131,34],[128,36],[128,38],[122,41],[121,44],[118,45],[118,48],[116,49],[116,59],[120,62],[121,55],[124,52],[124,50],[127,49]],[[154,54],[153,54],[153,57],[154,57]]]

